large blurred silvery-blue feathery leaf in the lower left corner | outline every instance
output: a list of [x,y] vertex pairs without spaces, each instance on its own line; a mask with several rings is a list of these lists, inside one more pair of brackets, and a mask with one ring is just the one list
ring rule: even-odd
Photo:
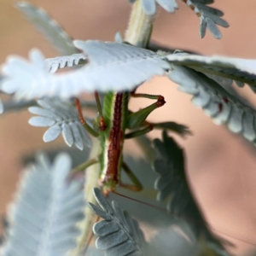
[[3,256],[64,256],[75,247],[76,224],[84,218],[84,195],[80,182],[67,183],[70,172],[68,154],[58,154],[53,164],[41,154],[26,167],[10,208]]

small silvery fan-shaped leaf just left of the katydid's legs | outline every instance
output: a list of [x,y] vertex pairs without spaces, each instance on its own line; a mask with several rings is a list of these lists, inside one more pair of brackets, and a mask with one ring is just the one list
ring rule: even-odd
[[44,133],[45,143],[54,141],[62,134],[69,147],[75,144],[77,148],[83,150],[84,145],[90,146],[90,137],[80,123],[77,109],[70,102],[44,99],[38,100],[38,105],[41,108],[28,108],[29,112],[39,115],[29,119],[29,124],[40,127],[49,126]]

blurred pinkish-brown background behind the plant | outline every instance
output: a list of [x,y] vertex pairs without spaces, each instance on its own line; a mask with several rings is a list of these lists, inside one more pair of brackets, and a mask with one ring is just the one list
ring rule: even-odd
[[[38,0],[30,1],[46,9],[67,32],[76,39],[113,41],[115,32],[124,34],[131,6],[128,0]],[[230,28],[220,28],[223,38],[217,40],[207,32],[199,37],[199,20],[181,1],[175,15],[160,9],[156,16],[152,39],[172,49],[188,49],[203,55],[228,55],[256,58],[256,21],[254,0],[216,0],[215,7],[224,11],[224,20]],[[0,0],[0,62],[8,55],[22,55],[32,48],[41,49],[46,57],[55,57],[57,51],[24,19],[15,1]],[[189,125],[192,137],[178,142],[185,148],[189,182],[195,191],[208,223],[218,235],[236,244],[230,252],[246,255],[256,250],[256,150],[239,135],[233,135],[224,126],[212,123],[201,109],[190,103],[190,96],[177,91],[177,85],[168,79],[155,78],[139,88],[141,92],[161,94],[166,105],[159,108],[149,120],[172,120]],[[247,88],[242,94],[254,101]],[[136,110],[150,101],[135,99]],[[27,124],[30,113],[10,113],[0,117],[0,214],[11,201],[22,169],[21,158],[39,149],[63,145],[62,138],[46,144],[45,129]],[[160,137],[160,132],[150,133]],[[127,150],[134,145],[127,144]],[[137,150],[132,148],[133,151]],[[236,239],[238,238],[238,239]]]

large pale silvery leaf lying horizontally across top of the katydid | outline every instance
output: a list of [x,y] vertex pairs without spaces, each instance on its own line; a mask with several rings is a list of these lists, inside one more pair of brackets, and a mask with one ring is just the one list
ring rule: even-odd
[[95,90],[133,90],[154,75],[164,75],[170,68],[169,63],[148,49],[102,41],[75,41],[74,44],[88,55],[88,65],[68,73],[50,74],[42,53],[32,50],[31,62],[9,57],[3,65],[7,79],[2,90],[15,93],[19,99],[70,98]]

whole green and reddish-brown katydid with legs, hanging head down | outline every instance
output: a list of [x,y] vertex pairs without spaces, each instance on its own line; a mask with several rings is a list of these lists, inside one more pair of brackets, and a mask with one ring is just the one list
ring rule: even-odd
[[[141,190],[142,185],[137,177],[131,172],[123,161],[123,145],[125,138],[141,136],[153,129],[153,125],[146,122],[148,114],[156,108],[165,104],[163,96],[152,96],[147,94],[136,94],[134,92],[109,92],[104,96],[103,106],[95,93],[99,117],[96,119],[98,131],[94,131],[83,119],[79,100],[76,99],[79,115],[84,128],[94,137],[98,137],[101,142],[102,153],[99,155],[101,173],[99,183],[103,192],[107,195],[109,191],[115,191],[116,185],[128,189]],[[146,97],[157,100],[147,108],[143,108],[136,113],[128,110],[128,102],[131,96]],[[125,133],[129,129],[130,133]],[[95,164],[96,160],[89,160],[84,166]],[[120,172],[123,169],[131,178],[134,185],[124,184],[120,180]]]

